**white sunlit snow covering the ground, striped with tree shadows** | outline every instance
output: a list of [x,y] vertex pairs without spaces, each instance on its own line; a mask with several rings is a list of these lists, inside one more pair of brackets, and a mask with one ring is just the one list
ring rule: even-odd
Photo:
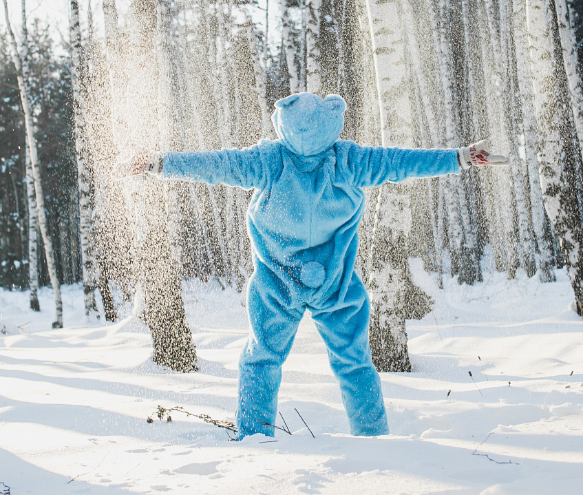
[[413,268],[434,311],[408,322],[414,372],[381,374],[391,434],[377,438],[348,434],[310,319],[279,394],[293,435],[232,442],[182,414],[146,419],[158,404],[233,418],[237,293],[189,285],[200,372],[180,375],[149,361],[131,316],[88,326],[78,286],[64,288],[59,330],[49,291],[39,315],[26,293],[0,291],[0,494],[582,494],[583,323],[564,271],[440,290]]

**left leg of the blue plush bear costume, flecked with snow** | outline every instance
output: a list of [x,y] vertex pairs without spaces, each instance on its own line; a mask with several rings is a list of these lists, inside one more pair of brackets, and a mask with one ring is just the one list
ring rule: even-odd
[[[273,436],[282,364],[288,357],[303,307],[290,308],[288,288],[261,263],[247,293],[250,333],[239,361],[239,437]],[[287,304],[286,304],[287,303]]]

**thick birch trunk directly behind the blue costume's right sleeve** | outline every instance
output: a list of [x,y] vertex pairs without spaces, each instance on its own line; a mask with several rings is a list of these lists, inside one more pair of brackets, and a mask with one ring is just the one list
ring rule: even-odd
[[[368,20],[381,116],[383,146],[411,145],[412,109],[401,39],[401,4],[367,0]],[[394,28],[385,28],[392,19]],[[407,257],[403,244],[410,230],[410,198],[402,186],[384,185],[379,193],[370,247],[370,349],[379,371],[410,371],[405,330]]]

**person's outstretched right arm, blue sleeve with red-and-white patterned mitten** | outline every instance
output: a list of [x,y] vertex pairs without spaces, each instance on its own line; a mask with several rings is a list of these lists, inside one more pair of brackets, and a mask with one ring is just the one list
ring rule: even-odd
[[401,182],[407,178],[443,176],[459,173],[471,165],[509,165],[504,156],[491,155],[487,141],[460,149],[406,149],[361,147],[348,151],[348,169],[354,174],[354,185],[379,186],[384,182]]

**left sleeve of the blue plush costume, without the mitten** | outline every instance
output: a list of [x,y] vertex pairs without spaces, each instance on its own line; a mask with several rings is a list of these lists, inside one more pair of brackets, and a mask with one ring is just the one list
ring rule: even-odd
[[162,153],[162,178],[221,182],[228,186],[262,187],[268,171],[263,167],[257,145],[221,151],[171,151]]

